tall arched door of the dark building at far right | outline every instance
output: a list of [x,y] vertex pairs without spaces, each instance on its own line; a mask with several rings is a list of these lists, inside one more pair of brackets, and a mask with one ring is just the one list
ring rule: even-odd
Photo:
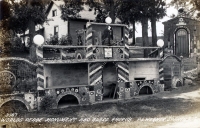
[[175,55],[189,57],[189,37],[188,31],[180,28],[175,33]]

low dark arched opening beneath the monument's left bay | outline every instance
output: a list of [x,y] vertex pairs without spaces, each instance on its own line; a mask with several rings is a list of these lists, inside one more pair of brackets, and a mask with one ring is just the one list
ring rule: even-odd
[[79,104],[77,97],[74,95],[65,95],[58,102],[58,108],[64,108],[71,105]]

